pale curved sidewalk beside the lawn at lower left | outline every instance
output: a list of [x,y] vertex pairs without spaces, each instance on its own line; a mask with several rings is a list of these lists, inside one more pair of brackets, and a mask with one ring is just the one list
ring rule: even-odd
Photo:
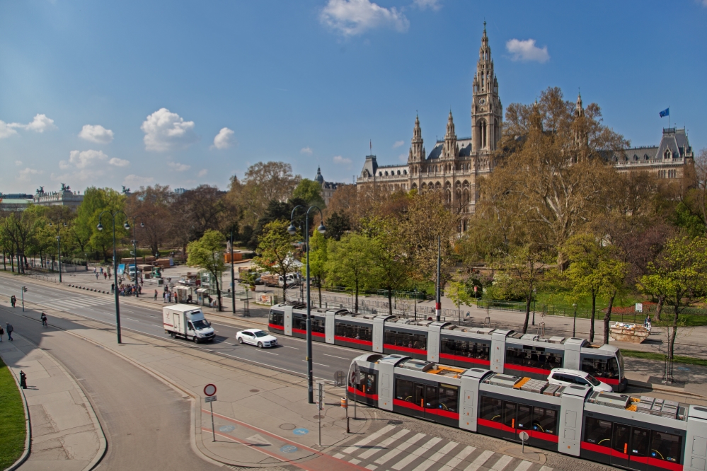
[[20,335],[0,343],[0,356],[17,377],[27,375],[32,440],[22,471],[90,470],[105,452],[105,436],[74,378],[42,349]]

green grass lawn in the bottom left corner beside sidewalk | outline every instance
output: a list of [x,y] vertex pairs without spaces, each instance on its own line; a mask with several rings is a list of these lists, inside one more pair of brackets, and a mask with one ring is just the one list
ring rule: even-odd
[[22,396],[10,369],[0,360],[0,470],[20,458],[26,433]]

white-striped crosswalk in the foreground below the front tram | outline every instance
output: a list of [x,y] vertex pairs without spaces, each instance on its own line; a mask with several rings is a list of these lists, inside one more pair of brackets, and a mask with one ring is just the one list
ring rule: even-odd
[[348,446],[334,458],[372,471],[553,471],[531,461],[391,425]]

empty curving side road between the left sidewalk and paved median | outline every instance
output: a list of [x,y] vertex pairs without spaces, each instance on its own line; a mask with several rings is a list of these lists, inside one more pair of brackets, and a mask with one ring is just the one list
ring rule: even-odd
[[[18,308],[0,307],[1,319],[11,322],[17,333],[47,350],[71,371],[96,411],[108,442],[96,469],[222,469],[192,451],[189,400],[102,347],[62,330],[44,329],[40,322],[22,314]],[[68,321],[64,324],[81,328]]]

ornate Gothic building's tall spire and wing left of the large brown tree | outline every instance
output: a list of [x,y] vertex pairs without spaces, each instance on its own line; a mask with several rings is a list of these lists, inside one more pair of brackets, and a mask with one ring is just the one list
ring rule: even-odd
[[[461,214],[473,213],[478,198],[476,179],[493,170],[491,154],[500,140],[503,121],[485,23],[471,86],[470,137],[456,136],[450,110],[444,140],[437,140],[427,153],[420,118],[415,117],[407,164],[378,165],[376,156],[366,156],[357,185],[385,190],[444,190],[448,204]],[[464,217],[460,229],[466,231]]]

